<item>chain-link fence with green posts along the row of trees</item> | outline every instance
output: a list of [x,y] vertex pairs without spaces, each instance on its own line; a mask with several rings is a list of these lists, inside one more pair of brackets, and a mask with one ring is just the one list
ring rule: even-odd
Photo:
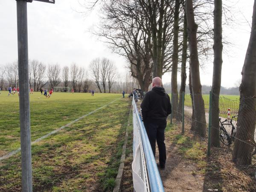
[[[230,98],[228,98],[230,97]],[[182,123],[183,134],[212,151],[226,151],[239,164],[250,164],[256,154],[256,98],[212,94],[172,94],[171,123]],[[240,108],[240,109],[239,109]]]

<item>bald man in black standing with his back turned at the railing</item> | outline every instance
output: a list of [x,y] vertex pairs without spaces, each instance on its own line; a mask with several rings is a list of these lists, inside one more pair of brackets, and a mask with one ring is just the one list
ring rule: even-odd
[[145,94],[141,103],[143,123],[147,131],[148,139],[155,156],[156,141],[159,150],[160,169],[165,168],[166,146],[164,143],[164,130],[166,128],[166,119],[172,113],[171,101],[169,95],[161,87],[162,80],[155,77],[152,81],[152,90]]

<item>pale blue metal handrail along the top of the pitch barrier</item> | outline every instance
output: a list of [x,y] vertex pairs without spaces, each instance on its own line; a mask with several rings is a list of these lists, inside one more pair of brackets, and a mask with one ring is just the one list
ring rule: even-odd
[[[136,106],[136,102],[133,97],[133,104]],[[142,119],[140,117],[140,113],[137,109],[135,108],[136,111],[136,116],[137,119],[139,119],[139,125],[140,125],[140,134],[141,134],[141,139],[142,139],[142,144],[143,144],[143,150],[145,154],[145,159],[146,159],[146,166],[148,170],[148,179],[149,179],[149,185],[150,185],[150,190],[151,192],[164,192],[163,189],[163,183],[159,174],[159,171],[157,169],[157,164],[154,158],[154,154],[151,148],[151,145],[148,140],[148,135],[145,130],[144,124],[142,122]]]

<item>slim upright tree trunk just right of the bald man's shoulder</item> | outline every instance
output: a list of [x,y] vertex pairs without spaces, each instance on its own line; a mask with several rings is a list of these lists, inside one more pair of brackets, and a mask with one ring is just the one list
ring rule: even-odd
[[[175,0],[174,24],[173,24],[173,53],[172,53],[172,115],[177,119],[178,116],[178,87],[177,87],[177,72],[178,72],[178,38],[179,38],[179,9],[180,2]],[[181,96],[180,96],[181,97]]]

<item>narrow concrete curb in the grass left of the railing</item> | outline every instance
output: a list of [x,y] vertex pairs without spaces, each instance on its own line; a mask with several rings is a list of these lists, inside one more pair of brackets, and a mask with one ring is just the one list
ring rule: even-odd
[[[132,105],[131,105],[131,108],[132,108]],[[126,152],[126,145],[127,145],[127,141],[128,141],[128,127],[130,126],[131,108],[130,108],[130,112],[129,112],[128,124],[127,124],[127,127],[126,127],[125,143],[123,145],[122,156],[121,156],[121,159],[120,159],[120,166],[119,166],[118,173],[116,175],[116,185],[113,189],[113,192],[119,192],[120,191],[120,185],[121,185],[121,181],[122,181],[122,172],[123,172],[123,169],[125,167],[125,152]]]

